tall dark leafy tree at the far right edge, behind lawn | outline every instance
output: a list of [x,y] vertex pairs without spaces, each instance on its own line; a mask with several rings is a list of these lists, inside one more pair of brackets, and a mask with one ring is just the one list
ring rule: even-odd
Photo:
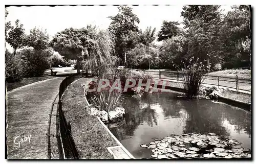
[[250,9],[248,6],[232,6],[223,20],[221,40],[226,67],[250,65]]

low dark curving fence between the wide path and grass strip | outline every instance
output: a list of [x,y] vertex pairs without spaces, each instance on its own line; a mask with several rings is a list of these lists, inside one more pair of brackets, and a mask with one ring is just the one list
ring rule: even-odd
[[[48,145],[52,145],[50,146],[50,149],[48,149],[48,159],[79,159],[79,152],[77,150],[77,147],[71,134],[72,125],[70,122],[66,120],[65,114],[62,111],[61,96],[72,82],[85,76],[88,76],[88,74],[85,74],[83,72],[80,74],[73,74],[63,79],[59,85],[59,99],[56,111],[56,121],[54,121],[56,122],[56,135],[54,137],[56,137],[57,140],[48,139]],[[51,125],[51,127],[54,126]]]

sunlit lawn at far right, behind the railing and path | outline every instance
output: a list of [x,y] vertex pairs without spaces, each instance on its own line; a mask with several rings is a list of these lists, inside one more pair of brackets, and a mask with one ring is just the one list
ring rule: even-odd
[[237,75],[238,78],[251,79],[251,71],[249,69],[226,69],[223,71],[211,72],[208,75],[228,78],[235,78]]

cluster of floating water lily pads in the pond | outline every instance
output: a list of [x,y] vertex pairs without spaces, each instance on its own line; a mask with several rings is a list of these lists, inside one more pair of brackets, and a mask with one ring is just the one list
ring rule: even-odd
[[153,158],[251,158],[250,149],[236,139],[223,138],[215,133],[171,134],[141,145],[151,149]]

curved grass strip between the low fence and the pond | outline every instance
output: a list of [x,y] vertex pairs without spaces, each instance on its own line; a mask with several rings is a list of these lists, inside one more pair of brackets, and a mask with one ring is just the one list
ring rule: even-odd
[[69,86],[62,97],[62,109],[72,124],[72,135],[83,159],[113,159],[106,148],[118,144],[98,119],[84,109],[86,101],[81,84],[87,80],[82,78]]

